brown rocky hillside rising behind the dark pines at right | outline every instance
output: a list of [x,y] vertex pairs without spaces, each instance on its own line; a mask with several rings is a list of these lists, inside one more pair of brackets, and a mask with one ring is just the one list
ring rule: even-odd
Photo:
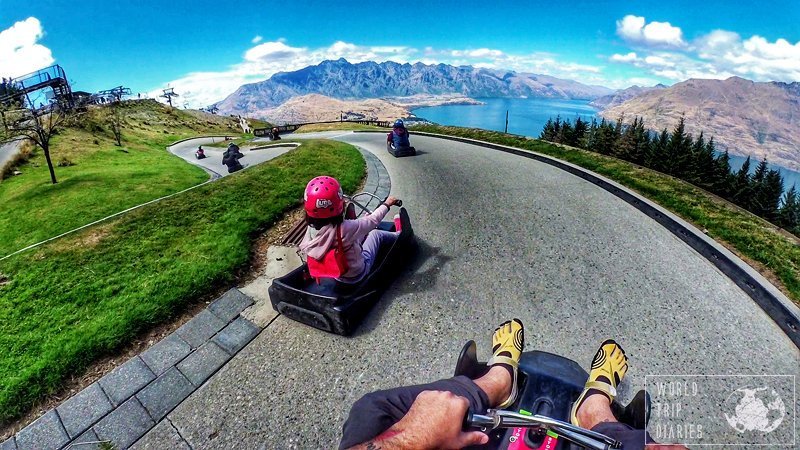
[[640,116],[653,129],[672,128],[681,115],[690,133],[714,136],[719,148],[766,156],[800,170],[800,82],[756,83],[739,77],[691,79],[651,90],[601,112],[608,119]]

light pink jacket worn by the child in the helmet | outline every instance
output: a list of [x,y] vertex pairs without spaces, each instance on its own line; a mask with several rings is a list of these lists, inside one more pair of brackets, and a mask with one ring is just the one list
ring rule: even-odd
[[[381,220],[389,212],[389,207],[381,205],[368,216],[356,220],[342,222],[342,243],[347,257],[347,272],[342,278],[358,278],[364,272],[364,257],[361,255],[361,243],[370,231],[377,228]],[[300,250],[309,258],[321,260],[328,250],[336,245],[336,226],[325,225],[319,231],[308,227]]]

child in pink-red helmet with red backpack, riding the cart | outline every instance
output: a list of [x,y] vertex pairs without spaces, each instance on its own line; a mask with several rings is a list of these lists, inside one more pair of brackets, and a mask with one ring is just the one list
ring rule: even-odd
[[398,233],[375,229],[397,202],[394,197],[368,216],[344,220],[342,187],[335,178],[321,176],[306,185],[304,200],[309,227],[300,250],[315,278],[357,283],[369,273],[381,246],[397,239]]

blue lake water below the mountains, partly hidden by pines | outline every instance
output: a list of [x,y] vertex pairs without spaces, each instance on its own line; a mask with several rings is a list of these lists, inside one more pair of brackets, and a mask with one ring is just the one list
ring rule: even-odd
[[[523,136],[539,137],[544,124],[550,118],[561,116],[575,122],[575,118],[591,120],[597,117],[597,110],[589,106],[587,100],[563,100],[549,98],[479,98],[484,105],[445,105],[417,108],[413,111],[422,117],[440,125],[483,128],[485,130],[503,131],[505,129],[506,111],[508,111],[508,132]],[[745,157],[730,155],[731,167],[739,170]],[[755,170],[758,159],[751,160],[751,170]],[[797,184],[800,188],[800,172],[781,166],[770,165],[783,175],[786,189]]]

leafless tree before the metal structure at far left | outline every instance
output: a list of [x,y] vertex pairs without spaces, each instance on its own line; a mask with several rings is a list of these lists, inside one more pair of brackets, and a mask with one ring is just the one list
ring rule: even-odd
[[[26,96],[27,97],[27,96]],[[57,103],[36,108],[28,98],[28,107],[5,113],[5,127],[0,131],[0,142],[27,139],[44,152],[47,168],[50,169],[50,180],[58,183],[53,161],[50,158],[50,139],[67,119],[67,112]]]

